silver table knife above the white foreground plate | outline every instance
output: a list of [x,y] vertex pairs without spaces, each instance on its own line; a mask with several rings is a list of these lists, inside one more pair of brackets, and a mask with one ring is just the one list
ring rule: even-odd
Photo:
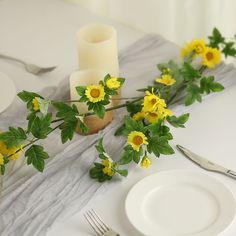
[[236,172],[233,170],[229,170],[224,168],[223,166],[220,166],[214,162],[208,161],[207,159],[198,156],[197,154],[191,152],[190,150],[188,150],[185,147],[182,147],[180,145],[176,145],[176,147],[191,161],[193,161],[194,163],[196,163],[197,165],[199,165],[200,167],[202,167],[205,170],[209,170],[209,171],[214,171],[214,172],[218,172],[227,176],[230,176],[234,179],[236,179]]

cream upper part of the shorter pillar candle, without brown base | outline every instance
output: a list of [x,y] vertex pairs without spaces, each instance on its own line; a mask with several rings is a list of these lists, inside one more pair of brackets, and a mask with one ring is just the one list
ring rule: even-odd
[[[70,76],[70,98],[71,100],[79,100],[80,96],[76,91],[77,86],[98,85],[103,80],[107,72],[100,69],[87,69],[73,72]],[[80,113],[88,112],[87,105],[81,102],[74,102]]]

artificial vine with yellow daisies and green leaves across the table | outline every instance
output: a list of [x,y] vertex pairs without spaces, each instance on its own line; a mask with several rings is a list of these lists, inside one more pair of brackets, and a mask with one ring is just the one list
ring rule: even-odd
[[[189,114],[176,117],[168,108],[171,104],[183,100],[185,105],[201,102],[202,96],[210,92],[219,92],[224,87],[215,81],[214,76],[205,76],[206,68],[214,68],[221,61],[221,53],[227,56],[236,56],[234,42],[227,41],[215,28],[213,34],[205,40],[193,40],[181,49],[183,61],[180,64],[174,61],[158,64],[159,76],[147,88],[139,89],[141,95],[130,98],[118,106],[109,107],[112,96],[125,82],[124,78],[115,78],[107,75],[99,84],[78,86],[77,93],[80,99],[74,102],[83,102],[88,107],[87,113],[80,113],[71,101],[59,102],[47,100],[33,92],[22,91],[19,98],[26,103],[28,109],[28,125],[26,128],[9,127],[8,131],[0,133],[0,170],[5,172],[5,166],[23,154],[27,164],[33,165],[38,171],[43,171],[48,153],[42,145],[35,144],[46,139],[56,129],[61,130],[61,141],[72,140],[78,122],[81,132],[87,133],[88,127],[84,118],[96,115],[103,118],[106,111],[126,107],[127,115],[124,124],[115,135],[122,135],[126,145],[120,154],[120,159],[114,161],[103,146],[103,139],[96,145],[101,161],[95,162],[90,170],[93,179],[103,182],[111,180],[114,175],[127,176],[124,168],[130,162],[141,167],[149,167],[152,163],[150,154],[159,157],[171,155],[174,150],[169,145],[173,139],[169,125],[176,128],[184,127]],[[200,60],[200,66],[194,66],[193,61]],[[49,112],[49,107],[56,112]],[[27,140],[30,140],[27,142]]]

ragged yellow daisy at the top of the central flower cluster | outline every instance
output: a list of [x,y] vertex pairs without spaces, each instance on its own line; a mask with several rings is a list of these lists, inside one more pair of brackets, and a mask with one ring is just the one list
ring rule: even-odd
[[146,96],[143,101],[143,111],[152,112],[158,109],[159,106],[166,107],[165,100],[159,98],[153,93],[146,91]]

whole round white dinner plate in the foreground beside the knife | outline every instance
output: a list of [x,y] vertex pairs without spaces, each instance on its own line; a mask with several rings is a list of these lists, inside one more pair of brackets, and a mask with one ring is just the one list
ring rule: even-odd
[[217,179],[196,171],[164,171],[138,182],[125,211],[146,236],[216,236],[233,221],[233,194]]

